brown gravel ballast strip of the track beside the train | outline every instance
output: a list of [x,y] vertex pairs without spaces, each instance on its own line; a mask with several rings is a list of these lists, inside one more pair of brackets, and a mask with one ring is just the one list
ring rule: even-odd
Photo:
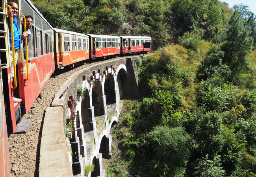
[[[129,56],[134,57],[140,55]],[[144,56],[146,55],[150,55],[150,53],[147,53]],[[104,61],[110,61],[117,58],[123,58],[123,56],[105,59]],[[75,68],[68,67],[52,74],[48,83],[45,85],[45,88],[41,92],[42,98],[38,98],[38,101],[33,103],[28,114],[25,114],[22,117],[22,119],[32,119],[32,123],[30,124],[27,133],[18,135],[13,134],[8,138],[12,176],[38,176],[41,131],[43,128],[42,122],[46,108],[50,106],[59,87],[71,74],[85,67],[97,65],[102,61],[103,60],[99,59],[85,61]]]

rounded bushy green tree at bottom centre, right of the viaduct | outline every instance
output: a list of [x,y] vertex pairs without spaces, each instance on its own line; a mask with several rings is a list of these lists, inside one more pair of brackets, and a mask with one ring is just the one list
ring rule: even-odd
[[157,126],[148,133],[147,140],[154,154],[148,176],[183,175],[191,146],[191,138],[184,128]]

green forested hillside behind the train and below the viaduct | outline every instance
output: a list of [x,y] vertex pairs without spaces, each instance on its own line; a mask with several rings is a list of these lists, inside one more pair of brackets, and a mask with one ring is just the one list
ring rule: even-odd
[[256,176],[256,16],[218,0],[32,0],[55,28],[152,37],[106,176]]

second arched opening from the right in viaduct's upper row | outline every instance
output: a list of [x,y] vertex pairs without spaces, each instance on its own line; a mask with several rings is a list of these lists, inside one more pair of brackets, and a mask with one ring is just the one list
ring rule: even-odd
[[115,98],[115,79],[113,75],[109,75],[108,77],[106,77],[106,80],[104,83],[104,90],[105,90],[107,105],[116,103],[117,101]]

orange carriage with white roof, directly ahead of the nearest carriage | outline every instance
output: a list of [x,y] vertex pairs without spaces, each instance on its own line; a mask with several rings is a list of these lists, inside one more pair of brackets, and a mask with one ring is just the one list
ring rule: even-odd
[[89,59],[89,37],[81,33],[54,28],[57,68]]

